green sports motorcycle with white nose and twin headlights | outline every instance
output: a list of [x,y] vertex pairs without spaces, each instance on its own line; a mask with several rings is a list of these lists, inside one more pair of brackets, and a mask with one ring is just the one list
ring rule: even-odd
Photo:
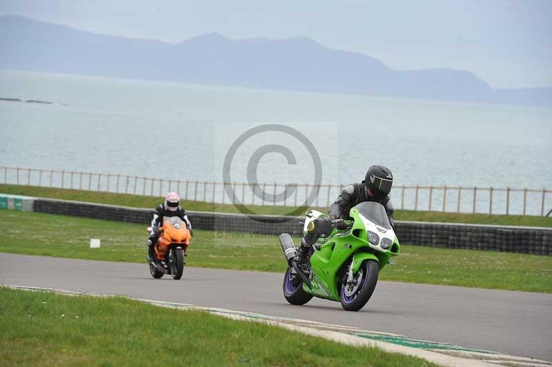
[[360,310],[374,292],[380,270],[399,255],[400,244],[382,204],[365,201],[349,211],[345,230],[337,230],[322,212],[306,212],[303,239],[311,246],[299,264],[291,236],[279,236],[288,261],[284,297],[306,304],[313,297],[339,301],[345,310]]

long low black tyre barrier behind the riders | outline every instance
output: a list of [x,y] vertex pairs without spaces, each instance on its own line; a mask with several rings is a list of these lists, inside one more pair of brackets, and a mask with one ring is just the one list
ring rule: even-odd
[[[0,195],[1,197],[1,195]],[[10,199],[8,198],[8,203]],[[23,198],[23,210],[149,224],[152,210],[57,199]],[[188,212],[194,228],[221,232],[299,233],[302,217]],[[282,219],[289,220],[283,221]],[[402,244],[552,255],[552,228],[395,221]]]

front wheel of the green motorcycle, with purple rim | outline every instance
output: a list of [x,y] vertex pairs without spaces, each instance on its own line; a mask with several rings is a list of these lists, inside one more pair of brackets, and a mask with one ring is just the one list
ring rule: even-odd
[[372,297],[379,272],[380,264],[377,264],[377,261],[363,261],[352,281],[347,281],[341,286],[341,306],[348,311],[363,308]]

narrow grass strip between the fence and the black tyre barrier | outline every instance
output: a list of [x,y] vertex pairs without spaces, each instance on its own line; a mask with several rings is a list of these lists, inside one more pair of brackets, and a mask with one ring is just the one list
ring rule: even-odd
[[[41,188],[36,186],[17,186],[0,184],[0,192],[12,195],[27,195],[34,197],[50,197],[91,203],[132,206],[135,208],[155,208],[163,198],[139,195],[115,194],[112,192],[92,192],[84,190],[68,190],[61,188]],[[239,212],[239,208],[231,204],[211,204],[204,201],[184,201],[186,210],[204,212]],[[296,208],[285,206],[247,206],[253,212],[268,215],[287,215]],[[327,208],[318,208],[327,212]],[[306,211],[301,208],[300,212]],[[469,224],[499,224],[503,226],[534,226],[552,227],[552,217],[535,217],[530,215],[485,215],[443,212],[423,212],[415,210],[396,210],[395,219],[400,221],[442,221]]]

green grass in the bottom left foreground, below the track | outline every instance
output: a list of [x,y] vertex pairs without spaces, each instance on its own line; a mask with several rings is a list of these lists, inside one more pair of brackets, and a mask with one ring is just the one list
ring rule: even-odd
[[0,288],[3,366],[435,366],[275,326],[124,298]]

